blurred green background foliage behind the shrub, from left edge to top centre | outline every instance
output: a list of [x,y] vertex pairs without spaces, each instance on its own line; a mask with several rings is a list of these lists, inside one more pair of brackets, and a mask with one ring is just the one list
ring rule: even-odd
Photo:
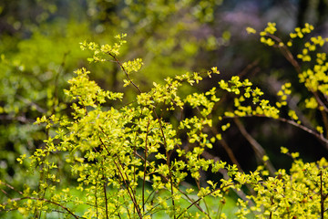
[[[133,90],[120,86],[124,81],[118,74],[118,66],[87,64],[87,52],[80,51],[78,42],[92,39],[111,44],[108,36],[128,32],[129,43],[120,51],[121,59],[143,57],[146,63],[143,74],[134,74],[134,81],[144,89],[149,89],[152,81],[160,81],[162,76],[174,76],[181,69],[193,68],[199,48],[206,42],[205,38],[196,37],[195,30],[214,20],[220,1],[181,1],[179,7],[174,2],[168,7],[166,1],[157,1],[151,7],[140,6],[145,4],[149,1],[0,3],[1,180],[18,190],[24,189],[23,180],[37,183],[37,177],[26,176],[28,163],[17,165],[15,158],[20,154],[28,157],[36,148],[45,146],[43,140],[51,131],[34,126],[36,118],[53,113],[69,114],[62,90],[67,89],[67,79],[72,77],[74,69],[87,66],[102,88],[124,90],[126,101],[135,98]],[[206,7],[211,9],[205,10]],[[191,11],[197,18],[190,16]],[[154,32],[157,34],[153,35]],[[172,40],[176,38],[179,41]],[[68,175],[69,168],[61,171]],[[13,192],[7,191],[7,195],[15,195]]]

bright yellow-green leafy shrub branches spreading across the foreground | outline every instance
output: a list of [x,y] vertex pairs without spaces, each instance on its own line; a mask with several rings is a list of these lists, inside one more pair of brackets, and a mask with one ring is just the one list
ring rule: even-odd
[[[216,67],[203,73],[168,77],[144,91],[132,79],[143,61],[136,58],[121,62],[118,58],[126,35],[116,36],[117,43],[113,45],[81,43],[82,49],[93,52],[88,58],[90,62],[115,62],[126,77],[124,86],[135,89],[136,97],[127,102],[124,93],[101,89],[89,78],[86,68],[77,69],[65,90],[70,113],[55,110],[38,118],[36,124],[45,127],[48,135],[46,145],[31,156],[23,153],[17,158],[17,162],[29,166],[29,172],[39,174],[39,183],[26,184],[21,192],[1,181],[3,191],[16,192],[15,197],[1,204],[3,211],[18,210],[33,217],[57,212],[67,218],[152,218],[164,212],[171,218],[227,218],[222,209],[228,195],[235,193],[238,218],[324,218],[328,194],[328,162],[324,158],[302,162],[298,152],[290,153],[282,147],[282,153],[292,157],[292,168],[275,172],[265,151],[252,139],[250,142],[260,150],[258,156],[263,163],[254,172],[241,172],[237,163],[230,165],[208,155],[222,141],[221,132],[231,126],[225,122],[219,130],[218,124],[234,119],[241,125],[238,119],[246,117],[281,120],[327,142],[327,62],[324,53],[315,53],[327,39],[313,36],[305,43],[304,49],[316,57],[313,67],[302,69],[288,48],[295,37],[312,29],[310,25],[296,28],[284,44],[274,36],[275,24],[269,23],[260,36],[264,44],[281,49],[298,71],[300,83],[308,89],[304,110],[318,110],[323,115],[323,126],[321,120],[316,120],[314,128],[304,124],[289,108],[290,82],[282,85],[278,101],[273,103],[249,79],[238,76],[221,79],[218,88],[183,95],[183,86],[194,86],[204,78],[220,74]],[[248,31],[255,33],[251,28]],[[306,62],[312,60],[304,50],[297,57]],[[235,97],[234,110],[217,116],[215,109],[220,104],[221,91]],[[187,116],[187,108],[196,113]],[[288,111],[286,117],[282,110]],[[71,172],[73,184],[63,183],[63,169]],[[76,191],[84,195],[78,196]],[[208,207],[208,196],[216,200],[218,209]]]

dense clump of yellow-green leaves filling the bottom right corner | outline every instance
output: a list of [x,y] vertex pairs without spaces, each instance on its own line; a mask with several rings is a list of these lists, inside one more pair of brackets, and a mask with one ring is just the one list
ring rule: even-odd
[[[282,151],[288,150],[282,148]],[[255,192],[248,196],[250,200],[238,201],[239,218],[251,213],[255,218],[324,218],[328,162],[323,158],[304,163],[297,158],[297,153],[292,153],[291,157],[294,162],[289,174],[282,169],[275,177],[263,180],[260,174],[265,176],[268,172],[259,166],[251,173],[252,177],[242,173],[236,175],[237,182],[250,183]]]

